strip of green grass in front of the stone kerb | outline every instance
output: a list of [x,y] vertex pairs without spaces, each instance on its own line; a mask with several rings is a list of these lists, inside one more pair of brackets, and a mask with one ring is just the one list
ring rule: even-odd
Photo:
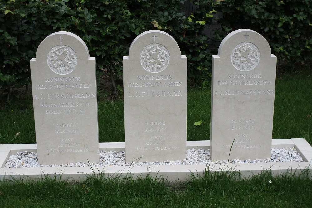
[[90,177],[79,183],[53,176],[40,181],[2,181],[0,206],[311,207],[312,181],[307,174],[272,177],[263,172],[249,180],[235,180],[237,174],[207,172],[185,183],[167,183],[151,177]]

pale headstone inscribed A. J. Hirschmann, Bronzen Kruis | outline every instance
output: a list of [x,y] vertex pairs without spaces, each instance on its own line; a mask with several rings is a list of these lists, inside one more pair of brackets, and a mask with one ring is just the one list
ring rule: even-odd
[[56,32],[30,66],[38,163],[98,163],[95,57],[80,37]]

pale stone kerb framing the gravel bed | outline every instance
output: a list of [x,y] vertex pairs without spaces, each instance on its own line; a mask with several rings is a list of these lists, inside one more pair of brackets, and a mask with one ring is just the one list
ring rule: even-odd
[[[298,139],[273,139],[272,148],[296,148],[301,157],[307,162],[288,163],[246,163],[246,164],[210,164],[210,165],[159,165],[159,166],[111,166],[93,167],[95,173],[105,173],[106,176],[129,176],[134,178],[144,177],[148,173],[153,177],[166,179],[167,181],[187,181],[192,173],[203,175],[205,169],[211,171],[240,171],[242,177],[250,178],[262,170],[269,170],[273,175],[295,173],[300,174],[309,168],[312,170],[312,147],[303,138]],[[210,141],[187,141],[187,149],[209,149]],[[124,151],[124,142],[100,143],[100,151]],[[70,180],[85,180],[88,174],[93,174],[90,167],[42,167],[42,168],[2,168],[11,154],[17,152],[37,152],[36,144],[0,144],[0,180],[33,179],[45,177],[45,175],[62,175],[62,178]]]

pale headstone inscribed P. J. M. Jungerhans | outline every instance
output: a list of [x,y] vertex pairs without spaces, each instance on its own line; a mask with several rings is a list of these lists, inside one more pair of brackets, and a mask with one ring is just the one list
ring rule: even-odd
[[212,160],[271,157],[275,73],[276,56],[259,33],[240,29],[223,39],[212,56]]

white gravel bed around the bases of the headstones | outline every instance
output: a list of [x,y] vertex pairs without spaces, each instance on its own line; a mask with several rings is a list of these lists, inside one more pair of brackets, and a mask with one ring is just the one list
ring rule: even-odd
[[203,149],[192,149],[187,151],[186,158],[176,161],[162,161],[162,162],[133,162],[132,164],[126,163],[126,154],[116,151],[101,151],[100,162],[98,164],[90,164],[88,162],[77,162],[69,164],[51,164],[51,165],[38,165],[37,153],[35,152],[17,152],[11,155],[4,165],[4,168],[23,168],[23,167],[84,167],[84,166],[129,166],[129,165],[192,165],[192,164],[220,164],[220,163],[267,163],[267,162],[303,162],[304,160],[295,148],[283,148],[271,150],[271,158],[256,159],[256,160],[214,160],[210,159],[210,152]]

